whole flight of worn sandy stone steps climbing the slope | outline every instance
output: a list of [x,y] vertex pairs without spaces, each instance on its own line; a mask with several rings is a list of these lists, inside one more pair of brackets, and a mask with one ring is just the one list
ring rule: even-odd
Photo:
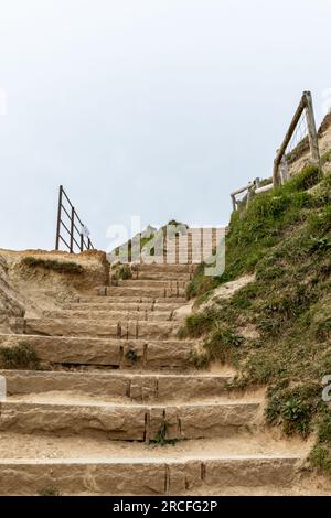
[[288,494],[300,442],[261,424],[260,392],[196,371],[173,312],[191,265],[141,265],[0,345],[33,346],[43,370],[2,370],[0,494]]

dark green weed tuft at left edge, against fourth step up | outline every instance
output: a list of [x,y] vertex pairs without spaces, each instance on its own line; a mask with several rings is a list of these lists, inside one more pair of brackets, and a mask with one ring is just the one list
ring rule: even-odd
[[13,347],[0,347],[0,368],[38,370],[40,360],[33,347],[20,342]]

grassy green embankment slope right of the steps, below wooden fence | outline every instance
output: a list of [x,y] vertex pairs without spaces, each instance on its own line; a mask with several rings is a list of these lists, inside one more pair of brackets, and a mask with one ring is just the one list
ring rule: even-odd
[[186,319],[181,335],[203,336],[197,366],[237,369],[237,388],[268,387],[266,419],[287,434],[317,431],[311,462],[331,475],[331,410],[322,379],[331,375],[331,176],[312,165],[232,215],[226,269],[189,287],[199,302],[216,285],[255,272],[233,298]]

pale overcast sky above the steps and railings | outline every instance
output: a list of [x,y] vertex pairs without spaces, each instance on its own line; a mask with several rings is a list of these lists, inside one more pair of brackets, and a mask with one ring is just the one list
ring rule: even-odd
[[54,248],[60,184],[100,249],[131,215],[226,224],[305,89],[321,121],[330,21],[329,0],[0,0],[0,247]]

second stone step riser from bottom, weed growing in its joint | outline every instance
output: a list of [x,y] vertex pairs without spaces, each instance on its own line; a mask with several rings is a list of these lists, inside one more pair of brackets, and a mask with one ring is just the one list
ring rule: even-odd
[[[52,401],[52,398],[50,398]],[[253,427],[259,403],[234,401],[145,406],[70,401],[1,403],[0,431],[58,435],[107,436],[114,441],[154,440],[164,430],[169,440],[232,436]],[[167,423],[167,424],[166,424]]]

